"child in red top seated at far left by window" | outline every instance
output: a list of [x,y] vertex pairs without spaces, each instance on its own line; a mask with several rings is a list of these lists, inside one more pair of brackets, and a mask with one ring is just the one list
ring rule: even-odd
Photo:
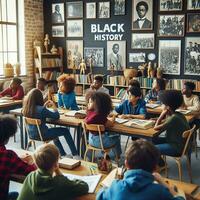
[[0,92],[1,97],[7,97],[7,99],[12,100],[22,100],[24,97],[24,89],[21,86],[22,80],[19,78],[13,78],[10,82],[9,88],[6,88],[2,92]]

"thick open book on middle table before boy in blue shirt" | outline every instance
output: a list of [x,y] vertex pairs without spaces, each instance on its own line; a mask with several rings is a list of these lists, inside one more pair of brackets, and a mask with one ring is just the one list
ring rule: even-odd
[[148,128],[153,127],[154,123],[155,121],[153,120],[132,119],[124,123],[124,125],[134,127],[134,128],[139,128],[139,129],[148,129]]

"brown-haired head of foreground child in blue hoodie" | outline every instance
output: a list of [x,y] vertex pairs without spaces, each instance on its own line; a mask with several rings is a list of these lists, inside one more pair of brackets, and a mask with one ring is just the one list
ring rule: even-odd
[[152,143],[139,139],[132,142],[125,157],[128,169],[142,169],[152,173],[156,170],[160,153]]

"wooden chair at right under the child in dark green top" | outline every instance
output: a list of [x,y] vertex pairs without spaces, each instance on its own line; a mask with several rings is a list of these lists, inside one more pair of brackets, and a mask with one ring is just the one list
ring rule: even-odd
[[181,159],[184,156],[186,156],[188,174],[189,174],[189,177],[190,177],[190,182],[192,183],[191,158],[189,156],[189,150],[190,150],[190,145],[192,145],[192,144],[190,144],[190,142],[191,142],[191,139],[193,137],[193,134],[194,134],[194,131],[195,131],[195,127],[196,126],[194,125],[192,127],[192,129],[183,132],[182,137],[186,140],[186,142],[185,142],[185,146],[184,146],[183,151],[182,151],[180,156],[177,156],[177,157],[176,156],[167,156],[167,155],[163,156],[163,159],[165,161],[165,173],[166,173],[167,177],[168,177],[168,166],[167,166],[166,158],[170,157],[170,158],[174,158],[175,159],[176,164],[178,166],[179,180],[182,181]]

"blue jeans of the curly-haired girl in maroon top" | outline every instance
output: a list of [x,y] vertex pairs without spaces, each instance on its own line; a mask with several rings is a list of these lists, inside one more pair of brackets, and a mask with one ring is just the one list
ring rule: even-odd
[[[117,156],[120,157],[122,150],[121,150],[120,136],[118,134],[109,134],[105,132],[104,134],[102,134],[102,142],[105,148],[115,145],[115,152],[117,153]],[[99,135],[94,135],[92,133],[89,133],[89,144],[94,147],[100,148],[101,143]],[[113,157],[112,153],[110,157]]]

